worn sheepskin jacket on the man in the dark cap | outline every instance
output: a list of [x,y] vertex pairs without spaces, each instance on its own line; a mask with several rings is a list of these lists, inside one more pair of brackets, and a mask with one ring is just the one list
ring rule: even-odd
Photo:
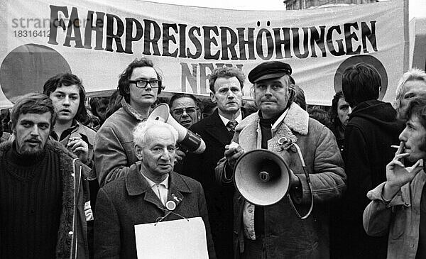
[[[285,116],[283,118],[283,116]],[[247,116],[236,126],[233,141],[239,143],[247,153],[261,149],[262,134],[258,113]],[[264,206],[264,242],[268,258],[329,258],[329,214],[328,204],[342,197],[346,189],[346,175],[342,156],[336,138],[327,127],[309,118],[306,111],[297,104],[291,104],[286,115],[280,116],[271,128],[272,138],[268,140],[268,150],[280,155],[301,183],[301,197],[292,193],[290,197],[297,203],[303,214],[309,210],[310,187],[302,169],[302,160],[293,147],[285,149],[280,144],[283,138],[290,139],[300,148],[312,186],[314,206],[307,219],[299,219],[288,197],[279,202]],[[216,167],[218,179],[223,179],[226,160],[219,161]],[[283,186],[284,188],[285,186]],[[267,191],[266,191],[267,192]],[[294,195],[293,195],[294,194]],[[244,252],[246,225],[243,223],[244,209],[254,214],[254,205],[246,202],[239,192],[234,196],[234,258]],[[253,215],[254,219],[254,215]],[[254,224],[253,224],[254,225]],[[253,227],[254,228],[254,227]]]

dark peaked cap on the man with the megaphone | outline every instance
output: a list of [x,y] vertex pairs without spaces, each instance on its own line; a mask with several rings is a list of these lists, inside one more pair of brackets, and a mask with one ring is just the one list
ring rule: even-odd
[[249,81],[254,84],[263,79],[282,77],[291,75],[291,67],[287,63],[280,61],[267,61],[257,65],[249,72]]

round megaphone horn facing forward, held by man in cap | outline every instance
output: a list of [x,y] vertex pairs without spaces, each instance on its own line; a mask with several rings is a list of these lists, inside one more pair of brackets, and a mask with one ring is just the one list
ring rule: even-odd
[[241,155],[236,162],[235,186],[251,204],[275,204],[288,192],[289,170],[279,155],[266,149],[251,150]]

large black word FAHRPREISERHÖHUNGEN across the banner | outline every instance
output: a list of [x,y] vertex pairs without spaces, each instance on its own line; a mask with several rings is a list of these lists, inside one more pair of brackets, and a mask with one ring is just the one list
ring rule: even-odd
[[[124,22],[121,17],[112,13],[94,10],[87,11],[85,17],[86,21],[80,20],[76,7],[68,9],[67,6],[50,5],[48,44],[58,45],[58,41],[63,41],[61,44],[65,47],[115,51],[130,55],[135,54],[133,49],[135,45],[139,45],[143,48],[143,55],[233,61],[305,59],[378,51],[376,21],[352,21],[331,26],[300,28],[283,27],[281,24],[271,27],[271,21],[266,21],[266,26],[261,26],[261,21],[258,21],[257,27],[232,28],[223,24],[194,26],[184,23],[159,23],[132,17],[124,18]],[[82,24],[80,21],[83,21]],[[40,26],[41,20],[12,19],[12,27],[19,24],[29,26],[31,23],[37,27]],[[81,29],[83,26],[84,35]],[[62,30],[59,30],[59,27]],[[59,37],[60,33],[63,33],[62,37]],[[17,32],[16,36],[20,37],[20,34]],[[204,63],[197,64],[195,68],[188,67],[186,63],[181,65],[186,66],[182,68],[186,73],[185,80],[190,78],[191,69],[197,70],[197,75],[203,77],[207,67],[210,68],[210,65],[204,67]],[[204,87],[201,91],[204,91]]]

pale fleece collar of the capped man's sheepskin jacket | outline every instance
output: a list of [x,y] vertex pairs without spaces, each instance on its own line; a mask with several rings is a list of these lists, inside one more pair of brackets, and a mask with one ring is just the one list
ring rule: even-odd
[[[239,123],[236,126],[236,131],[241,131],[246,126],[256,123],[258,124],[260,118],[258,113],[250,114],[246,117],[241,123]],[[290,108],[288,109],[287,115],[285,115],[285,118],[279,118],[277,127],[280,128],[280,121],[284,121],[284,124],[290,128],[290,130],[295,131],[299,133],[300,135],[307,135],[307,128],[309,126],[309,114],[304,109],[300,108],[297,104],[294,102],[290,105]]]

